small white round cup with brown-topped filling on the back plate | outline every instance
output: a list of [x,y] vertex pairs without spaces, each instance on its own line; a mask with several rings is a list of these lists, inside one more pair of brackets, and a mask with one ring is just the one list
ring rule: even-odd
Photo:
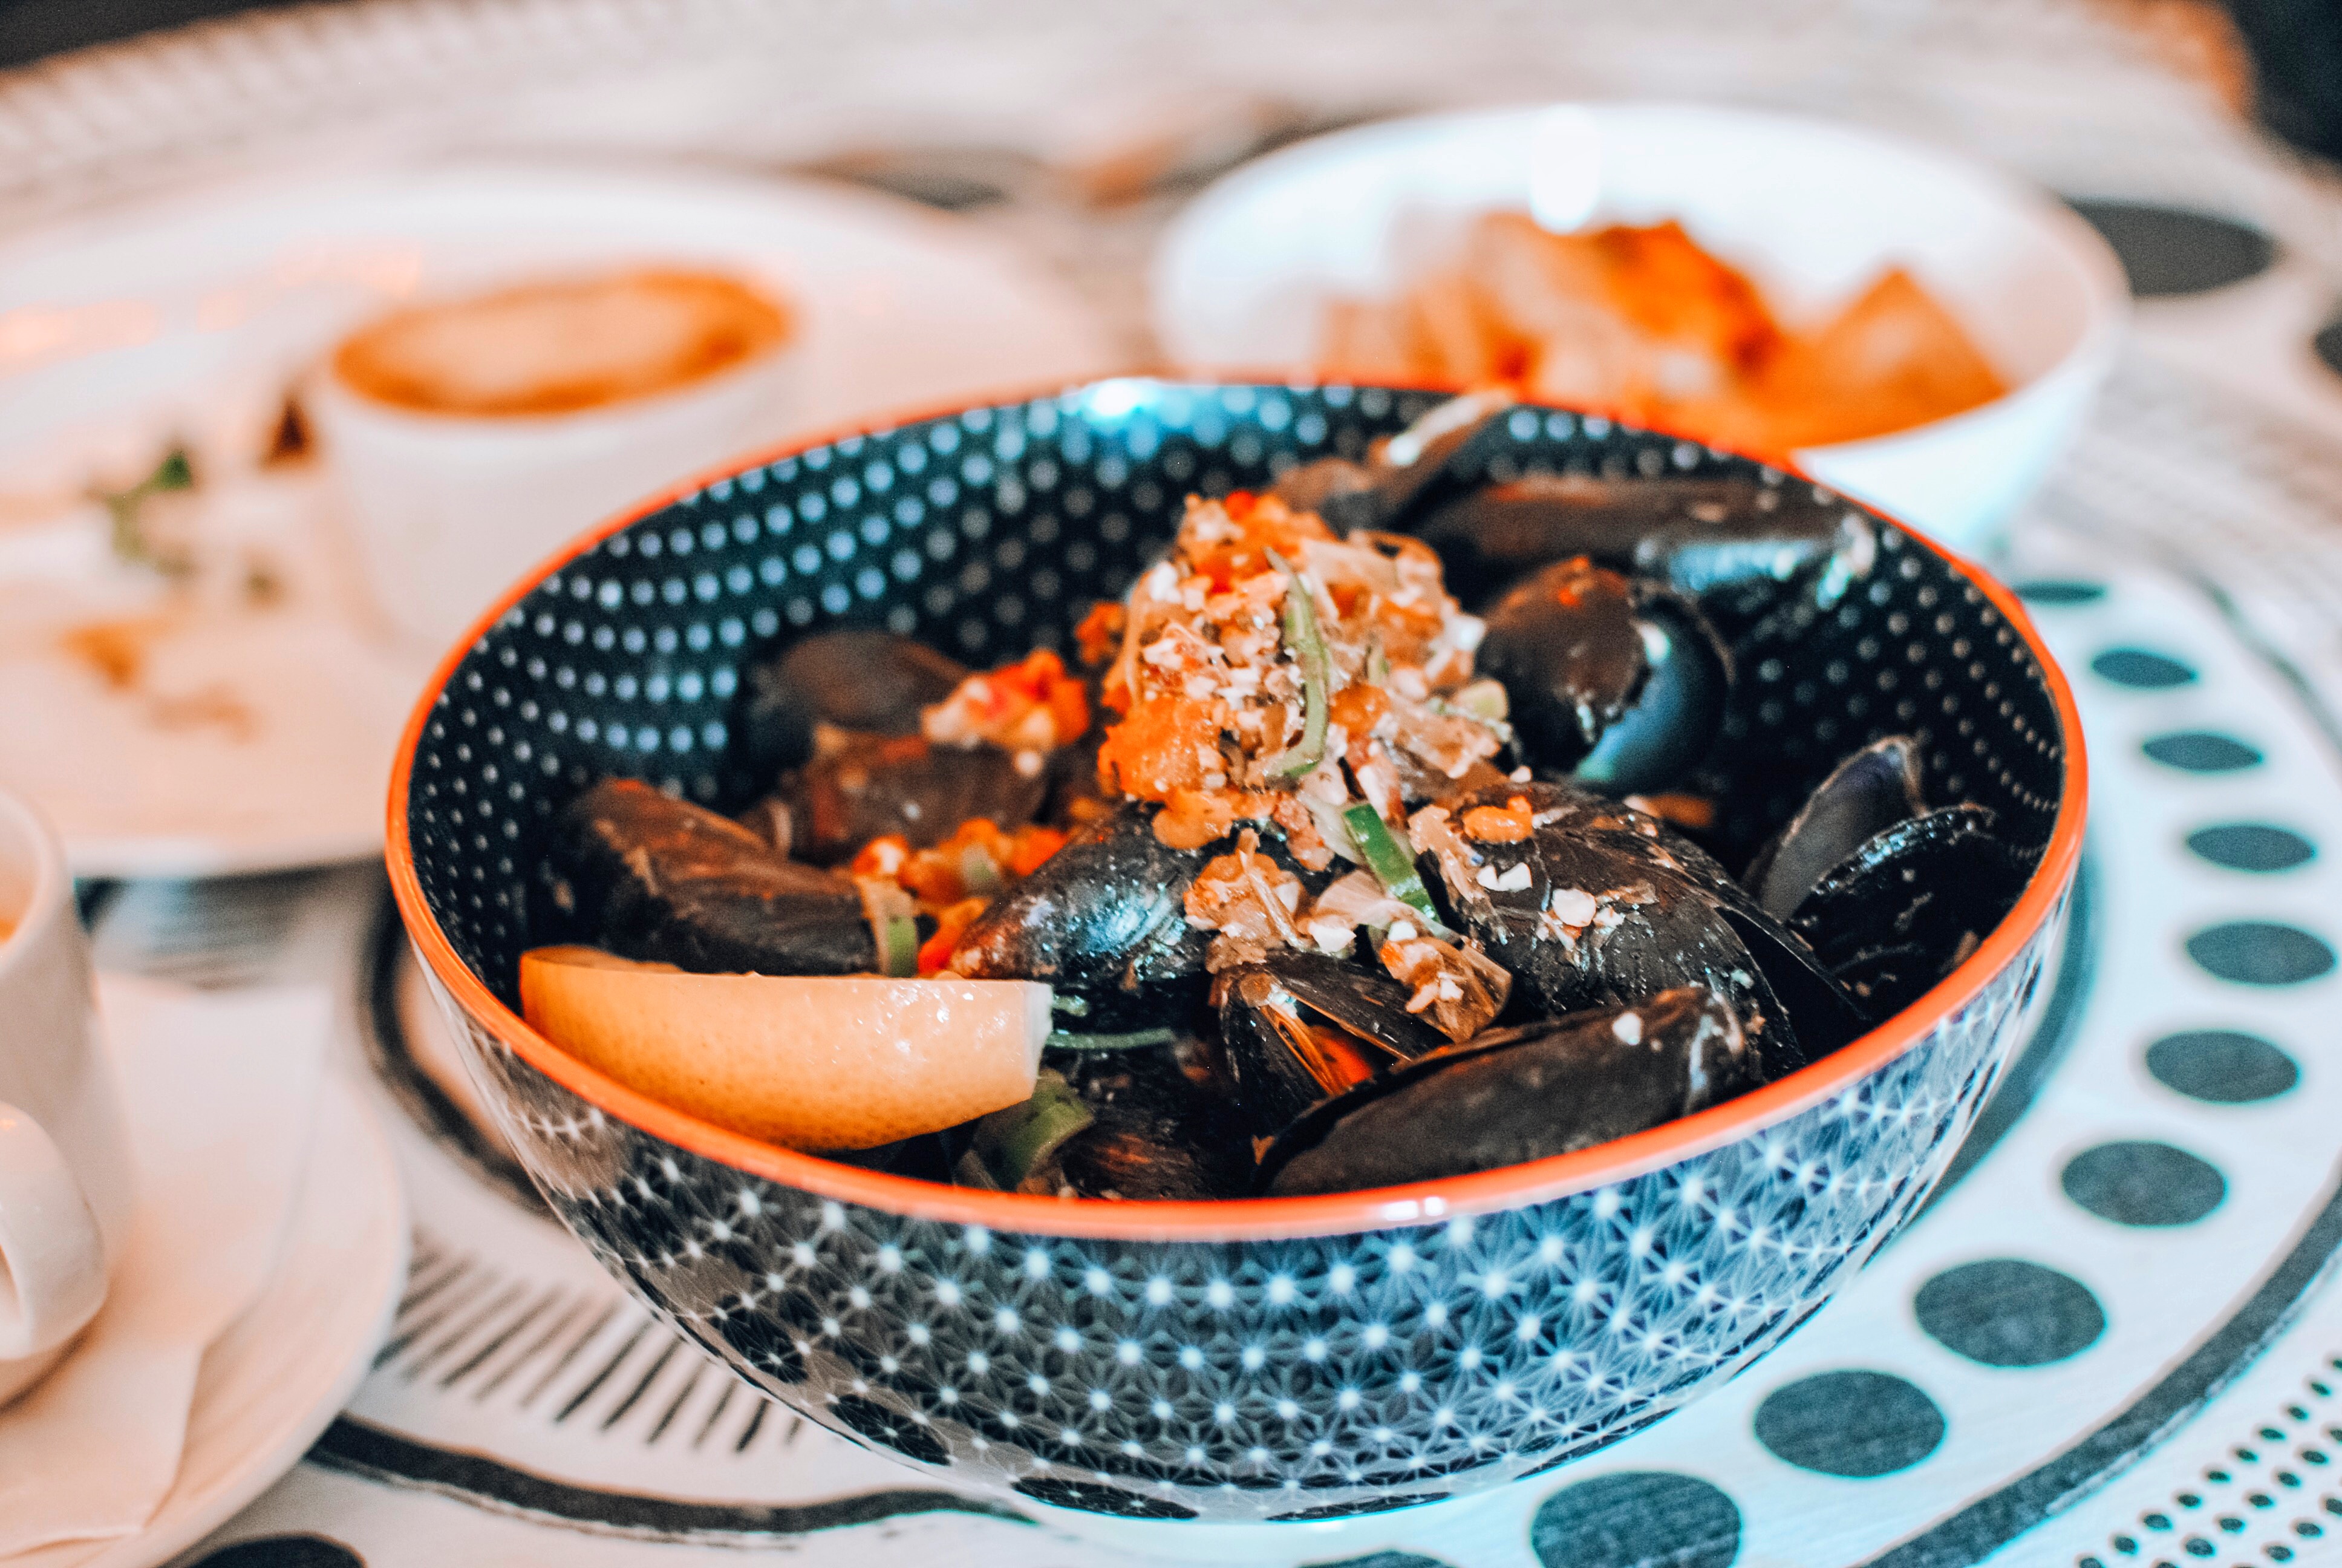
[[801,323],[712,375],[548,415],[417,410],[328,356],[302,405],[333,466],[368,593],[431,652],[562,544],[691,473],[787,434]]

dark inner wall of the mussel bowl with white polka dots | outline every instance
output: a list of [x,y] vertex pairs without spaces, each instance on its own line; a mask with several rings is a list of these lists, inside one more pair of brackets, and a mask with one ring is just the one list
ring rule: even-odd
[[[733,806],[768,780],[731,762],[742,668],[794,635],[888,626],[972,666],[1063,647],[1159,553],[1190,492],[1265,488],[1358,457],[1433,394],[1372,387],[1101,382],[780,457],[595,541],[513,605],[440,691],[415,752],[410,832],[433,914],[499,996],[543,893],[534,839],[625,773]],[[1515,408],[1457,473],[1778,471],[1670,436]],[[1850,750],[1913,734],[1932,799],[2049,834],[2056,715],[2023,640],[1942,558],[1878,527],[1843,591],[1759,633],[1712,776],[1740,788],[1724,839],[1771,834]]]

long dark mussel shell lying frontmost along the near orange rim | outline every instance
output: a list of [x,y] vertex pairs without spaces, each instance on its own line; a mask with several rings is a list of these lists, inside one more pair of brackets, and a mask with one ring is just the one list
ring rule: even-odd
[[1482,1034],[1351,1090],[1269,1146],[1276,1198],[1436,1181],[1593,1148],[1761,1083],[1733,1008],[1677,987]]

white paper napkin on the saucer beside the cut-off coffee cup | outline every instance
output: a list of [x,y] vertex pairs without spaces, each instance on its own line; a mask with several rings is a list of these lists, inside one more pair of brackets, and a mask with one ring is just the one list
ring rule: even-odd
[[105,1305],[0,1411],[0,1563],[136,1535],[171,1491],[194,1373],[276,1263],[333,1024],[319,987],[206,994],[108,975],[138,1216]]

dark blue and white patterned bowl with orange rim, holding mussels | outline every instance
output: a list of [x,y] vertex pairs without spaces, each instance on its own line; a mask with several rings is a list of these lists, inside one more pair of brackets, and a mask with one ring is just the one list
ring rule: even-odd
[[[1747,670],[1728,743],[1780,820],[1888,731],[1937,797],[2045,846],[1918,1005],[1679,1123],[1511,1170],[1215,1205],[977,1193],[773,1148],[534,1034],[539,834],[630,773],[700,802],[742,661],[878,621],[988,663],[1063,645],[1190,490],[1356,455],[1433,394],[1103,382],[761,457],[623,518],[440,668],[391,783],[391,874],[504,1134],[644,1303],[759,1390],[909,1465],[1138,1519],[1398,1509],[1593,1453],[1742,1371],[1911,1216],[2021,1036],[2082,839],[2080,724],[2002,588],[1881,530],[1871,574]],[[1494,476],[1749,473],[1518,408]],[[1778,483],[1803,483],[1773,476]]]

